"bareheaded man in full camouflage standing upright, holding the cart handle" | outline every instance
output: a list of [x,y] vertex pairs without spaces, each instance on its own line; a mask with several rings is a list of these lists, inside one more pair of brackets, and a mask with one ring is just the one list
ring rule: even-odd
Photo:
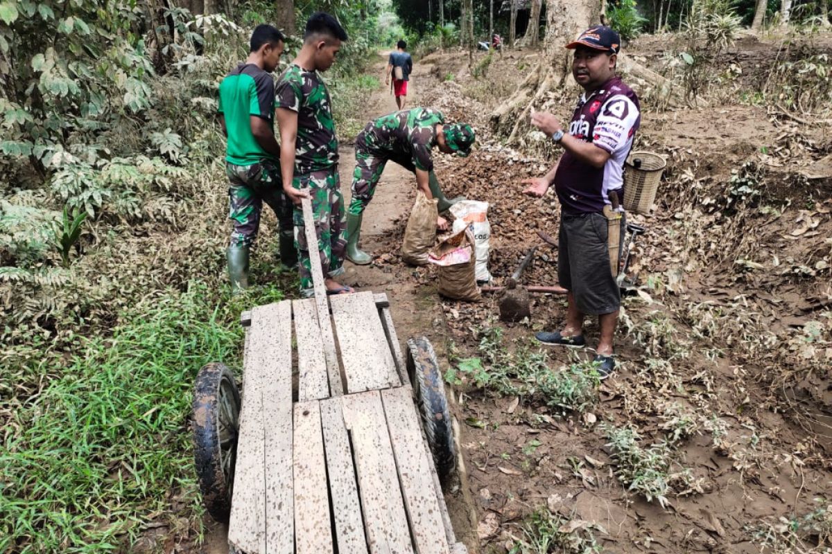
[[295,203],[295,243],[300,252],[300,289],[314,293],[310,248],[306,243],[300,200],[312,200],[315,233],[324,283],[329,294],[353,292],[335,277],[344,273],[346,216],[338,177],[338,140],[332,103],[318,71],[332,66],[347,33],[328,13],[306,22],[304,45],[277,84],[275,105],[280,125],[283,190]]

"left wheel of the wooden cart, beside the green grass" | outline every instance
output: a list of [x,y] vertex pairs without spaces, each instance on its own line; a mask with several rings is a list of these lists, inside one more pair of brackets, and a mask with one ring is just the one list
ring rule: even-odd
[[218,522],[228,522],[237,458],[240,392],[225,365],[212,362],[196,375],[194,463],[202,501]]

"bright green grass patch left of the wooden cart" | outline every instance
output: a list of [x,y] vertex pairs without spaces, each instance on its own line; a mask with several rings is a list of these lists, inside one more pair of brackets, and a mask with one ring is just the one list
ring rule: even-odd
[[59,376],[15,410],[0,450],[0,552],[123,552],[157,517],[199,528],[196,372],[212,360],[239,366],[240,309],[281,296],[228,302],[191,282],[141,302],[63,367],[40,368]]

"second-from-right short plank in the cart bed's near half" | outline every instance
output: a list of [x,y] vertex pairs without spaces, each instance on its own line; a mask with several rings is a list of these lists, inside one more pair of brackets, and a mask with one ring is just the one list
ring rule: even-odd
[[341,402],[344,423],[352,432],[369,550],[372,554],[412,554],[408,519],[381,395],[373,390],[344,396]]

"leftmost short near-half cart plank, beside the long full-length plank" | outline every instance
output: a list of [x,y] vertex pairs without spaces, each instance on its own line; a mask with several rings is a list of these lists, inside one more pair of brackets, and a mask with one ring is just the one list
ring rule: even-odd
[[[295,404],[295,552],[334,552],[329,522],[324,435],[317,400]],[[291,550],[289,551],[291,552]]]

